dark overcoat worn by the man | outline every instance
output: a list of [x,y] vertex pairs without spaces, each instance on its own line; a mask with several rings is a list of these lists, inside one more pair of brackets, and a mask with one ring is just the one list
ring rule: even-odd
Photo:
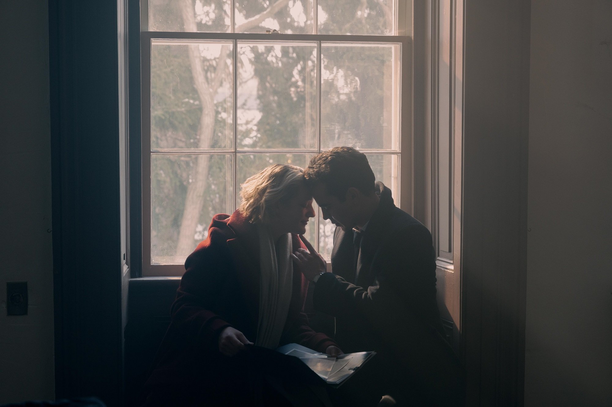
[[424,400],[435,395],[440,405],[452,405],[444,395],[461,397],[463,375],[444,340],[431,234],[395,206],[387,187],[376,185],[380,201],[362,234],[356,267],[354,232],[337,228],[332,273],[316,282],[314,307],[336,317],[335,340],[343,351],[379,353],[373,359],[379,380],[401,378],[398,386],[413,384],[411,391],[422,390]]

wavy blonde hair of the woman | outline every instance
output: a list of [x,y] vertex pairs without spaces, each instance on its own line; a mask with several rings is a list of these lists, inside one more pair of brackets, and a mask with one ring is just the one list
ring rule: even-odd
[[304,182],[304,170],[299,166],[267,166],[240,184],[238,210],[251,223],[268,222],[278,204],[295,196]]

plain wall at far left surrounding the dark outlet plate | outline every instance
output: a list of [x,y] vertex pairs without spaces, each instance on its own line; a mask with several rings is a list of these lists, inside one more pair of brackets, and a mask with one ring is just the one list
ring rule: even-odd
[[[0,404],[54,398],[48,3],[0,2]],[[6,315],[6,282],[28,315]]]

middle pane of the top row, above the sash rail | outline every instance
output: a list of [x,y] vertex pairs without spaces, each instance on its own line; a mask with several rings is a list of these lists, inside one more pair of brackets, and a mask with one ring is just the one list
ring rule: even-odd
[[236,0],[234,32],[314,34],[313,11],[312,0]]

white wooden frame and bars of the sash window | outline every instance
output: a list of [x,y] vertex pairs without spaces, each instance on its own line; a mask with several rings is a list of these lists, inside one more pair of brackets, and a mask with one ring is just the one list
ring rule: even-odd
[[[409,34],[409,23],[412,18],[412,9],[408,7],[409,1],[398,0],[396,4],[397,20],[396,34],[401,35],[329,35],[329,34],[243,34],[234,32],[162,32],[146,31],[148,29],[148,8],[146,2],[141,2],[141,192],[142,192],[142,258],[141,275],[143,277],[181,276],[185,269],[183,264],[151,264],[151,45],[155,39],[161,40],[231,40],[255,41],[255,42],[317,42],[319,56],[317,65],[320,64],[320,50],[322,42],[333,43],[394,43],[400,45],[401,74],[398,80],[400,97],[398,98],[398,130],[399,140],[397,150],[375,150],[361,149],[365,154],[390,154],[398,155],[398,196],[395,201],[401,209],[412,213],[414,207],[412,195],[412,37]],[[411,32],[410,32],[411,33]],[[236,43],[234,43],[236,44]],[[233,47],[234,64],[236,64],[237,47]],[[196,154],[234,154],[234,166],[236,166],[236,155],[242,152],[249,154],[316,154],[321,151],[321,128],[320,128],[320,66],[317,66],[318,75],[318,134],[316,149],[282,149],[282,150],[241,150],[235,144],[233,149],[228,150],[198,150]],[[234,77],[237,75],[234,67]],[[235,85],[235,84],[234,84]],[[234,86],[234,92],[236,92]],[[234,135],[235,136],[235,135]],[[183,152],[183,151],[181,151]],[[193,154],[194,151],[184,151]],[[173,151],[174,154],[178,152]],[[235,173],[235,170],[234,170]],[[402,176],[403,174],[403,176]],[[234,187],[236,179],[234,175]],[[236,195],[234,193],[234,195]],[[315,217],[315,230],[318,235],[318,221],[320,213],[317,211]],[[317,239],[318,243],[318,239]],[[194,247],[195,248],[195,247]]]

